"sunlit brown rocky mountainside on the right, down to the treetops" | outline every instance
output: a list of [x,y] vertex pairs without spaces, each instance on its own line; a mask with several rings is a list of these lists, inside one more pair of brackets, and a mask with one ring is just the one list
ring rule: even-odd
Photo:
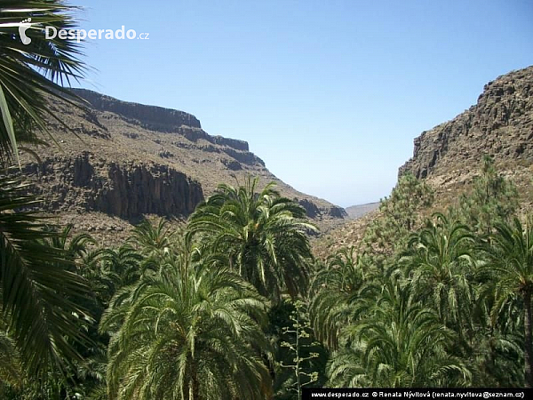
[[[452,204],[471,187],[484,155],[519,188],[524,209],[533,201],[533,66],[486,84],[477,104],[414,140],[414,154],[399,171],[413,173],[434,188],[435,209]],[[318,254],[357,245],[373,212],[347,221],[314,242]]]

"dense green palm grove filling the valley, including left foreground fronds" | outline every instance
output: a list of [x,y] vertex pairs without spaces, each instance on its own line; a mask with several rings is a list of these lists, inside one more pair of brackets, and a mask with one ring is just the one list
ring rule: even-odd
[[[33,8],[72,23],[59,1],[4,3],[3,21]],[[54,82],[83,68],[68,42],[23,48],[13,35],[0,32],[2,398],[533,385],[533,220],[492,158],[442,213],[403,176],[362,244],[325,260],[305,210],[252,177],[221,184],[182,228],[144,220],[103,246],[51,224],[7,168],[46,133],[44,93],[62,97]]]

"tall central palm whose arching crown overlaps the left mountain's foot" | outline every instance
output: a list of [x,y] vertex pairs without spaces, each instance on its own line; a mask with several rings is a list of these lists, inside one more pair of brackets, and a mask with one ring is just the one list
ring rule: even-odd
[[274,183],[257,191],[259,179],[244,186],[222,184],[198,205],[188,229],[212,252],[226,253],[230,268],[253,284],[261,295],[281,300],[306,292],[312,258],[303,207],[274,190]]

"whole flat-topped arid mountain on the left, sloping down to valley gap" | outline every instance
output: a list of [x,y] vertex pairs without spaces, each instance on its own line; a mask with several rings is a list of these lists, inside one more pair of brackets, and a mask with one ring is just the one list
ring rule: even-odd
[[278,180],[247,142],[204,132],[195,116],[97,92],[76,94],[88,101],[83,109],[51,101],[61,123],[51,121],[50,131],[60,148],[32,148],[39,162],[29,154],[22,161],[45,209],[80,231],[114,240],[146,214],[187,217],[220,182],[243,182],[247,174],[263,184],[274,180],[322,228],[346,216]]

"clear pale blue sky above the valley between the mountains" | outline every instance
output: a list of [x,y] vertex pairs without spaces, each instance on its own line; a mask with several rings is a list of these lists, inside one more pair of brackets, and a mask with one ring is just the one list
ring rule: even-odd
[[342,206],[387,196],[413,139],[533,64],[533,2],[74,0],[82,85],[194,114],[247,140],[294,188]]

